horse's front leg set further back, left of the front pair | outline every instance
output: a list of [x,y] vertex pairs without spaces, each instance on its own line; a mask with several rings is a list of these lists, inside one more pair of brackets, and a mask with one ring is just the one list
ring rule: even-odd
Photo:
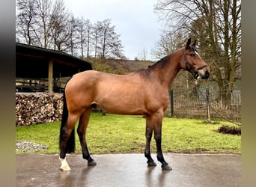
[[145,151],[144,151],[144,156],[147,158],[147,165],[148,166],[156,166],[156,162],[153,161],[151,155],[150,155],[150,141],[152,138],[152,134],[153,134],[153,124],[150,123],[151,122],[151,117],[147,116],[146,119],[146,132],[145,132],[145,136],[146,136],[146,147],[145,147]]

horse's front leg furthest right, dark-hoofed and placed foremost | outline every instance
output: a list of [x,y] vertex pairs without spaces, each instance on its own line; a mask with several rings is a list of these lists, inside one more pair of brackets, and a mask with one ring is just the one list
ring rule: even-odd
[[162,163],[162,169],[171,171],[172,168],[165,161],[164,156],[162,155],[162,117],[163,114],[160,112],[155,115],[153,134],[156,141],[156,157],[159,162]]

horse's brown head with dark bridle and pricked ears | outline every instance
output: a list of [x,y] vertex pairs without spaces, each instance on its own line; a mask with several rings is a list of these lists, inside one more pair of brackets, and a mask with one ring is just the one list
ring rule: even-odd
[[210,68],[202,60],[200,55],[198,55],[195,49],[196,40],[192,45],[190,45],[190,43],[191,38],[189,38],[183,49],[183,61],[180,62],[180,67],[192,73],[195,79],[199,77],[207,79],[210,76]]

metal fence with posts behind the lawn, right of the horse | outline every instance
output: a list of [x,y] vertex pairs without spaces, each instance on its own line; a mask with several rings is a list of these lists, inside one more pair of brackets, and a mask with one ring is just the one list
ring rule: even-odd
[[[201,119],[221,119],[222,116],[230,120],[241,120],[241,93],[240,90],[231,93],[230,105],[222,100],[222,94],[209,89],[200,89],[193,92],[174,90],[170,91],[170,105],[165,111],[169,117],[189,117]],[[209,101],[209,102],[207,102]]]

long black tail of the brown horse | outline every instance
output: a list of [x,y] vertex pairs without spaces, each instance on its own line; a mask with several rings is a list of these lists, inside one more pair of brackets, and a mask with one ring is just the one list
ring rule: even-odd
[[[70,79],[68,79],[67,82],[69,82]],[[66,102],[65,91],[66,91],[66,87],[65,87],[64,93],[63,93],[63,111],[62,111],[61,129],[60,129],[60,137],[59,137],[59,148],[60,149],[61,149],[61,139],[62,139],[62,135],[63,135],[62,128],[67,123],[67,118],[68,118],[68,109],[67,109],[67,102]],[[70,135],[70,138],[67,141],[66,153],[72,153],[72,152],[75,152],[75,128],[73,128],[73,130],[71,132],[71,135]]]

